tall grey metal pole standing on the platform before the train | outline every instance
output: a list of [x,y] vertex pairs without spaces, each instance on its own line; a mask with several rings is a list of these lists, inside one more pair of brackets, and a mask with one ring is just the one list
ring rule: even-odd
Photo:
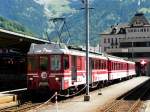
[[86,20],[86,94],[84,101],[90,100],[89,95],[89,0],[85,0],[85,20]]

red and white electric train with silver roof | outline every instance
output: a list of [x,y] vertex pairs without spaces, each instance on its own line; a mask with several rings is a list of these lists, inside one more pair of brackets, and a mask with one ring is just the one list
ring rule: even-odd
[[[48,87],[66,90],[86,83],[86,53],[64,44],[32,44],[28,52],[28,90]],[[90,83],[134,76],[135,63],[125,59],[89,53]]]

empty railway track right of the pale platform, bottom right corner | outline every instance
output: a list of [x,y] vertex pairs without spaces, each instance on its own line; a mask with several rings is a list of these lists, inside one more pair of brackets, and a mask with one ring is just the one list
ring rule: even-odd
[[143,104],[142,98],[150,91],[150,80],[125,95],[106,104],[98,112],[137,112]]

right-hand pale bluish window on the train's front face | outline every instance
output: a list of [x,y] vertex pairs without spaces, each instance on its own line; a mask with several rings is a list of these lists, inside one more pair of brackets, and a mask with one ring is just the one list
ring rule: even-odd
[[61,69],[61,56],[51,55],[51,70],[60,70],[60,69]]

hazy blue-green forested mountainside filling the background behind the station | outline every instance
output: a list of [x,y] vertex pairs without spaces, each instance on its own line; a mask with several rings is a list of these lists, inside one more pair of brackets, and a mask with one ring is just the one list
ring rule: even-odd
[[[128,23],[137,11],[150,18],[149,0],[91,0],[90,7],[90,43],[96,46],[103,32],[111,25]],[[1,0],[0,15],[27,26],[43,37],[48,32],[50,40],[57,40],[54,25],[49,21],[53,17],[65,17],[73,44],[85,43],[84,5],[80,0]],[[52,29],[53,28],[53,29]],[[54,32],[52,32],[54,31]],[[67,30],[62,36],[67,37]]]

